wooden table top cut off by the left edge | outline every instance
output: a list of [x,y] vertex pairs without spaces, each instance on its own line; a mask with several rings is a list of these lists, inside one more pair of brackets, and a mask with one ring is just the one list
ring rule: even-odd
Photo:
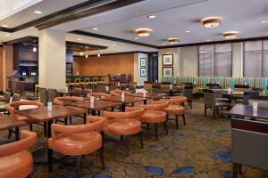
[[0,131],[28,125],[27,122],[17,120],[14,117],[0,114]]

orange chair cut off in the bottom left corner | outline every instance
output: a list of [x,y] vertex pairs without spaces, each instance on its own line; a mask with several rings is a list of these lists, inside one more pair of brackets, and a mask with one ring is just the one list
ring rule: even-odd
[[0,146],[0,178],[25,178],[33,171],[28,149],[37,142],[37,134],[21,131],[21,141]]

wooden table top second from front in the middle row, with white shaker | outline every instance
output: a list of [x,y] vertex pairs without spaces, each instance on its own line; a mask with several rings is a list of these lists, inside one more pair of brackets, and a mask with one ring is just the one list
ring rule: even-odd
[[102,109],[109,109],[113,107],[120,106],[121,102],[114,102],[114,101],[104,101],[104,100],[94,100],[94,104],[91,104],[90,99],[84,101],[74,101],[68,102],[65,106],[72,106],[82,109],[90,109],[90,110],[102,110]]

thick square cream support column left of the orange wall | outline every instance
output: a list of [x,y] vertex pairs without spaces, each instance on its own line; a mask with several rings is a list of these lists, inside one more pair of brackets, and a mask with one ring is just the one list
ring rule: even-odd
[[63,89],[66,80],[65,32],[42,29],[39,31],[39,86]]

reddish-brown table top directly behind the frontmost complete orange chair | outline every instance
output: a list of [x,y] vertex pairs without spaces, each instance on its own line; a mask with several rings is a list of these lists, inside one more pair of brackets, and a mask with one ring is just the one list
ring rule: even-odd
[[37,122],[45,122],[56,118],[71,117],[74,115],[84,114],[86,113],[86,110],[75,109],[68,106],[53,105],[51,111],[48,110],[46,106],[44,106],[36,109],[17,110],[16,113],[24,117],[35,119]]

